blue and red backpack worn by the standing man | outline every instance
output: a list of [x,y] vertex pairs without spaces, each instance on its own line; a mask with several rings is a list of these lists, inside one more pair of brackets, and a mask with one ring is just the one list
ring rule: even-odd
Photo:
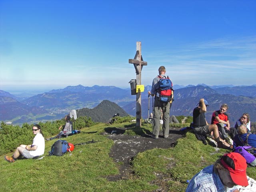
[[166,76],[161,77],[158,75],[158,78],[160,78],[160,80],[158,81],[156,90],[159,94],[159,99],[162,102],[170,102],[173,94],[172,81],[168,76],[166,78]]

